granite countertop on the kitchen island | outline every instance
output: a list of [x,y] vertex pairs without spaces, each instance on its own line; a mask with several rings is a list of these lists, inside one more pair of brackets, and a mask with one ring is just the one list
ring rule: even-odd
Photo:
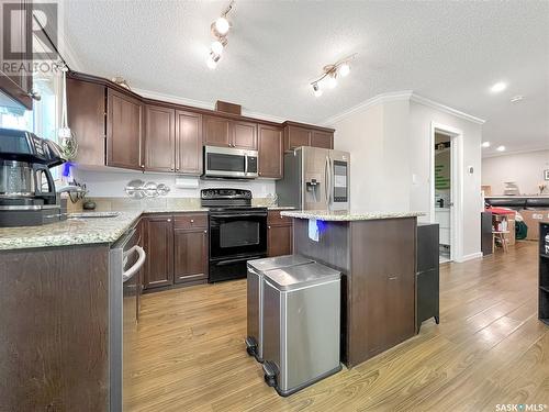
[[314,219],[320,221],[371,221],[381,219],[400,219],[400,218],[417,218],[423,216],[423,212],[366,212],[357,210],[295,210],[280,212],[282,216],[296,218],[296,219]]

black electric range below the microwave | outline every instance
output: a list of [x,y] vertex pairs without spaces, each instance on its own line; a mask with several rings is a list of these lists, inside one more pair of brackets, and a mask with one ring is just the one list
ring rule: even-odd
[[253,208],[244,189],[203,189],[200,197],[210,208],[209,281],[245,278],[246,261],[267,256],[267,208]]

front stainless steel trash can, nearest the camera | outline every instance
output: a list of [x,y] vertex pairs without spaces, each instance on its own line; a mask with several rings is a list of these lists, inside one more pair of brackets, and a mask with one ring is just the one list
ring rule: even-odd
[[287,397],[339,371],[340,272],[313,263],[264,283],[266,382]]

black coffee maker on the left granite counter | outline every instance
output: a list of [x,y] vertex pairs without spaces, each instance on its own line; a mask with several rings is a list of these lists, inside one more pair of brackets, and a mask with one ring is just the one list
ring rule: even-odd
[[56,143],[30,132],[0,129],[0,227],[66,219],[49,172],[65,162]]

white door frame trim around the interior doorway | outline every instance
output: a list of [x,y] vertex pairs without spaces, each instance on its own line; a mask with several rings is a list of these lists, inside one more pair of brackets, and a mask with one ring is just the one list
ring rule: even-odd
[[435,223],[435,132],[450,136],[450,260],[463,260],[463,132],[437,122],[430,123],[429,220]]

